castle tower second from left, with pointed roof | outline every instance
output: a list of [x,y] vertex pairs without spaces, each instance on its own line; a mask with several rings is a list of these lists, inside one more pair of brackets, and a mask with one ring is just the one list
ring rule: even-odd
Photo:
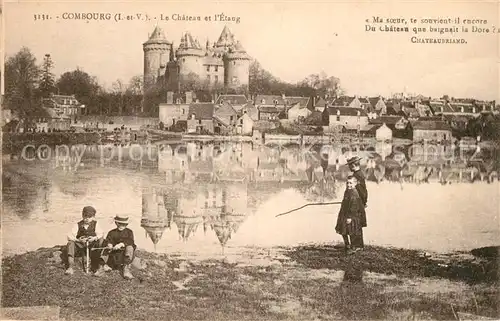
[[202,57],[204,57],[203,49],[198,40],[193,38],[189,32],[186,32],[181,37],[181,43],[176,51],[176,56],[181,77],[187,76],[190,73],[201,77]]

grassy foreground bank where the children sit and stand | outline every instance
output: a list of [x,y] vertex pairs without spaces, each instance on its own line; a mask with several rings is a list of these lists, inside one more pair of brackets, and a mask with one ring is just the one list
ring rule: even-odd
[[80,270],[66,276],[58,250],[3,259],[5,307],[59,306],[66,320],[450,320],[463,312],[499,316],[496,262],[492,266],[492,261],[465,254],[429,257],[368,247],[346,256],[340,249],[315,245],[186,260],[139,251],[136,278],[125,281],[118,271],[102,278]]

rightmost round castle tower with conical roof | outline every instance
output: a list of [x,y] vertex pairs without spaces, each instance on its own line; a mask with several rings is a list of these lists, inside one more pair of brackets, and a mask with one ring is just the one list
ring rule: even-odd
[[250,56],[238,41],[224,56],[224,84],[228,88],[248,87]]

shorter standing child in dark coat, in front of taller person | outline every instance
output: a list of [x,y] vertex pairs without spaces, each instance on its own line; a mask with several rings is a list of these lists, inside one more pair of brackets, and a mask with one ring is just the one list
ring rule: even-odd
[[335,226],[335,231],[344,239],[348,254],[363,249],[362,217],[365,205],[356,189],[356,184],[356,177],[351,175],[347,178],[347,188]]

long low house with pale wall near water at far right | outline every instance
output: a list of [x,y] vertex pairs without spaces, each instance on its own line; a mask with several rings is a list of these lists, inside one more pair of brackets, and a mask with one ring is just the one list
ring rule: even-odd
[[451,141],[451,127],[448,123],[438,120],[415,120],[410,121],[413,132],[413,141]]

